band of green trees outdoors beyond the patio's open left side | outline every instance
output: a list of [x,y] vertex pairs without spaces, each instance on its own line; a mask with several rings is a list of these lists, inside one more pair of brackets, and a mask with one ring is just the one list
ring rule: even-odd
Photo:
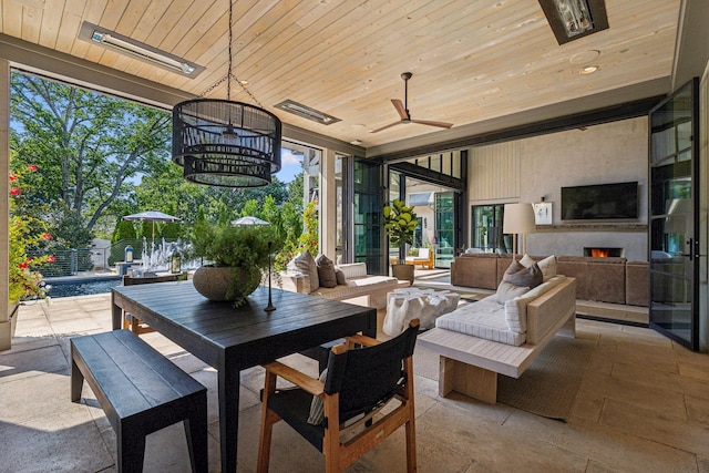
[[13,73],[10,116],[13,166],[37,167],[16,209],[45,222],[52,245],[81,248],[96,234],[113,241],[152,239],[152,223],[138,226],[122,217],[158,210],[183,222],[156,223],[156,239],[191,239],[197,223],[228,225],[251,215],[269,222],[285,243],[281,260],[299,246],[302,173],[290,185],[274,176],[259,188],[189,183],[169,158],[167,111]]

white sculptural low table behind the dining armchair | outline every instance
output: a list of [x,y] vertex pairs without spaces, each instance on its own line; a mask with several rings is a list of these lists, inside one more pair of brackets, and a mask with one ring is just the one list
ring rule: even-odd
[[458,308],[461,296],[450,290],[394,289],[387,295],[387,316],[382,330],[395,337],[403,332],[412,319],[418,318],[421,329],[431,329],[435,319]]

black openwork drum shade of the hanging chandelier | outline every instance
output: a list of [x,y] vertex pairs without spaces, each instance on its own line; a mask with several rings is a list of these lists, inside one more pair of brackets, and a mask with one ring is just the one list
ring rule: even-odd
[[173,161],[185,179],[224,187],[259,187],[280,171],[281,123],[242,102],[197,99],[173,109]]

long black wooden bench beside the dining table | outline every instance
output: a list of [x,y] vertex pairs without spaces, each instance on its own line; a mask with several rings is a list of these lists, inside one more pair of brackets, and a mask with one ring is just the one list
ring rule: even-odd
[[119,472],[143,471],[145,436],[183,421],[194,472],[207,466],[207,389],[129,330],[71,339],[71,400],[84,379],[116,434]]

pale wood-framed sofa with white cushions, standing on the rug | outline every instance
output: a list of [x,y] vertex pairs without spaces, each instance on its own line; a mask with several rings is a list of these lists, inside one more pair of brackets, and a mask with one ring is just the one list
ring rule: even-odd
[[499,288],[439,317],[419,337],[421,347],[441,357],[440,395],[458,391],[494,404],[497,373],[518,378],[554,335],[575,337],[576,280],[553,265],[540,286],[514,297]]

